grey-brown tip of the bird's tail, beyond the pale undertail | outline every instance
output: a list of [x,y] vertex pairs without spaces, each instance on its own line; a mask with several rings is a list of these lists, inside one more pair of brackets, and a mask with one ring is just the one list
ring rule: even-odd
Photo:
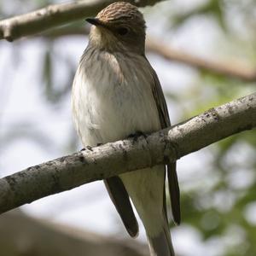
[[163,225],[162,230],[157,236],[148,235],[148,243],[150,256],[175,256],[167,223]]

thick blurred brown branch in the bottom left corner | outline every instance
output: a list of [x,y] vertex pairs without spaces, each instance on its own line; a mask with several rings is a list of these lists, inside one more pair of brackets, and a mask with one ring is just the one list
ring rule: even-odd
[[[0,216],[1,256],[147,256],[146,244],[11,211]],[[65,250],[63,250],[65,245]]]

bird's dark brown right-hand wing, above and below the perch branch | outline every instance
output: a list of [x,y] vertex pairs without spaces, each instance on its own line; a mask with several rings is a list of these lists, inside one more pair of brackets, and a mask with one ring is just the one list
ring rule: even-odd
[[[161,88],[160,81],[157,77],[157,74],[155,73],[153,67],[151,67],[149,62],[148,65],[151,68],[151,73],[153,73],[154,81],[152,83],[152,92],[158,109],[161,128],[164,129],[171,125],[168,109],[166,106],[166,99]],[[171,197],[172,217],[176,224],[180,224],[180,193],[177,182],[176,162],[167,165],[167,178],[169,184],[169,193]],[[164,198],[165,197],[166,195],[164,196]]]

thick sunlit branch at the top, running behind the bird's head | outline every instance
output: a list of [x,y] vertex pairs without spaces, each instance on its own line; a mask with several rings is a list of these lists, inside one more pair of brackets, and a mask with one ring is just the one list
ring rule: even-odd
[[[153,5],[160,0],[125,0],[137,6]],[[73,3],[49,5],[26,15],[15,16],[0,21],[0,39],[15,39],[43,32],[54,26],[67,24],[73,20],[96,15],[113,0],[85,0]]]

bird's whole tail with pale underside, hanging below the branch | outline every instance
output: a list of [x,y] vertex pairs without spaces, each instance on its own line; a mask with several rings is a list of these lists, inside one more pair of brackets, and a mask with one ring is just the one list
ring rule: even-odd
[[175,256],[166,214],[165,166],[122,174],[145,227],[151,256]]

